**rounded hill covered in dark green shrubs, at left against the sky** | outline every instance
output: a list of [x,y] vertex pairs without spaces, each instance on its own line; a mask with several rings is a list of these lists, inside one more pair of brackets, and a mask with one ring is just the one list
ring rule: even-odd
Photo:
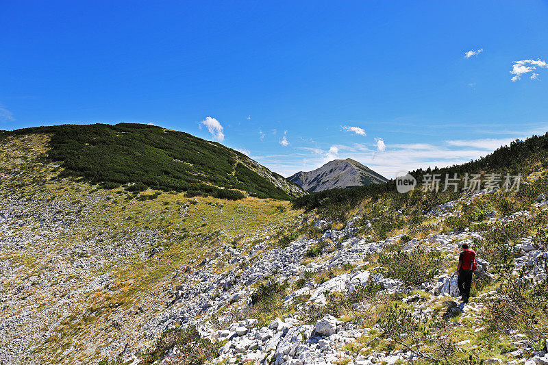
[[62,176],[83,177],[105,188],[126,185],[187,192],[187,196],[290,199],[303,194],[283,177],[222,144],[142,124],[56,125],[1,131],[0,138],[49,134],[47,158]]

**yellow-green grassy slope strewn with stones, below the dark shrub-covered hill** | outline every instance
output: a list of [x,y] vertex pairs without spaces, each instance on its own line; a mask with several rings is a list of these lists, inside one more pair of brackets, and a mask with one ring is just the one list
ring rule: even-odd
[[300,214],[288,201],[135,194],[60,178],[62,164],[40,157],[50,145],[46,134],[0,142],[0,349],[23,364],[96,364],[146,342],[142,326],[187,267],[224,247],[276,244]]

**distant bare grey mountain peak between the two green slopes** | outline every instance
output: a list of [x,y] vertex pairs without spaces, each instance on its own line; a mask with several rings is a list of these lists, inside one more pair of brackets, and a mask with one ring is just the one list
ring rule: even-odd
[[371,168],[360,162],[347,158],[333,160],[312,171],[299,171],[288,177],[289,181],[302,186],[309,192],[317,192],[349,186],[364,186],[382,184],[388,181],[386,177],[375,173]]

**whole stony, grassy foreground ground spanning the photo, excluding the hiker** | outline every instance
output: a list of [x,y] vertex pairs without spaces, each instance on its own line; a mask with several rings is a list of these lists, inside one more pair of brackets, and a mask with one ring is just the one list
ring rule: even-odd
[[[101,189],[60,177],[40,158],[48,141],[0,144],[2,364],[548,362],[543,194],[516,212],[497,189],[422,210],[379,199],[336,221],[284,201]],[[532,173],[521,194],[547,184]],[[462,243],[480,254],[468,305]]]

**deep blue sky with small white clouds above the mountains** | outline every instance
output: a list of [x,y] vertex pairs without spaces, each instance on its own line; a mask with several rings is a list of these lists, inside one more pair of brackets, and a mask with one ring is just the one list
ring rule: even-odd
[[548,131],[546,62],[547,1],[0,0],[0,129],[154,123],[393,177]]

